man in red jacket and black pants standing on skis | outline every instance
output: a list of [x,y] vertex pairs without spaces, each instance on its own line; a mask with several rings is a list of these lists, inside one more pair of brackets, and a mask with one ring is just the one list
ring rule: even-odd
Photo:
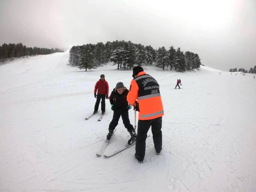
[[[98,89],[98,94],[96,95]],[[93,114],[95,114],[100,105],[100,99],[101,99],[101,113],[105,113],[105,98],[108,98],[108,82],[105,80],[104,75],[100,75],[100,80],[97,81],[94,87],[94,97],[97,99],[95,106],[94,106],[94,111]]]

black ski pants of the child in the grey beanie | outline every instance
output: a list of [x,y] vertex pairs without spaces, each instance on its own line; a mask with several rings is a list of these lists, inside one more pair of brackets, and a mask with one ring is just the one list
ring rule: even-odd
[[114,111],[113,119],[109,124],[109,129],[114,130],[116,126],[118,125],[118,121],[120,119],[120,116],[122,116],[124,127],[127,129],[127,131],[131,132],[133,130],[133,126],[130,123],[129,119],[129,113],[128,110],[126,111]]

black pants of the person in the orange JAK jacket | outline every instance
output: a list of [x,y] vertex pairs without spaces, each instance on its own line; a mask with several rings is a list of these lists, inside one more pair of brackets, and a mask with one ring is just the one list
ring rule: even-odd
[[146,139],[150,126],[156,153],[159,153],[162,150],[162,117],[150,120],[139,120],[135,147],[136,156],[139,161],[143,161],[145,157]]

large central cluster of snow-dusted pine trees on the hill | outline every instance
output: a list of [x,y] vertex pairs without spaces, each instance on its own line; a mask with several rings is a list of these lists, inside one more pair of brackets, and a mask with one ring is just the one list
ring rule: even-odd
[[80,69],[92,69],[102,63],[111,61],[119,68],[132,68],[134,65],[156,65],[163,70],[176,71],[200,68],[201,61],[198,54],[176,50],[173,46],[169,50],[165,47],[153,49],[150,45],[133,44],[131,41],[108,41],[97,44],[84,44],[73,46],[69,51],[69,65]]

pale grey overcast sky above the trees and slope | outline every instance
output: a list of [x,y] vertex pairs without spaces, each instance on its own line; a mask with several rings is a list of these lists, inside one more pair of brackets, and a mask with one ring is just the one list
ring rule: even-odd
[[256,0],[0,0],[0,44],[70,48],[124,40],[197,53],[228,71],[256,65]]

